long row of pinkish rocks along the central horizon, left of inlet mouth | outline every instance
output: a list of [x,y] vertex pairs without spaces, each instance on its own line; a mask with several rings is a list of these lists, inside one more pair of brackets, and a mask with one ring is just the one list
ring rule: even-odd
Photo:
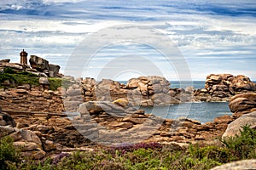
[[[69,88],[77,90],[76,98],[82,97],[83,101],[114,101],[125,100],[125,105],[170,105],[187,102],[191,99],[191,89],[171,89],[170,82],[164,77],[138,77],[131,78],[127,84],[122,84],[109,79],[96,82],[95,79],[86,77],[75,82]],[[67,88],[67,92],[68,89]],[[79,94],[79,90],[81,94]],[[74,92],[74,91],[73,91]],[[174,94],[174,96],[172,96]],[[67,101],[73,94],[67,93]],[[74,99],[74,98],[73,98]],[[127,103],[128,102],[128,103]]]

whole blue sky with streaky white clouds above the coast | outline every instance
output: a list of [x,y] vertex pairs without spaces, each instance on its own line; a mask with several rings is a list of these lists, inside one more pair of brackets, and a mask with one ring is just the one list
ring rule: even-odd
[[74,77],[255,81],[255,19],[255,0],[1,1],[0,59],[24,48]]

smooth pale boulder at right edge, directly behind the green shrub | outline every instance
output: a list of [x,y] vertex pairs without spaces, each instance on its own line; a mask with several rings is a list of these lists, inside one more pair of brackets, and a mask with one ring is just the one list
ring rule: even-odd
[[240,116],[234,122],[231,122],[222,138],[233,137],[240,134],[241,128],[245,125],[256,128],[256,111]]

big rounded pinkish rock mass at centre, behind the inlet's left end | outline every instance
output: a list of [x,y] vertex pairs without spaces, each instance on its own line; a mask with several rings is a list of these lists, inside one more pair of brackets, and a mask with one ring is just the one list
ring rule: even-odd
[[128,100],[131,105],[171,105],[189,100],[185,90],[181,93],[169,86],[170,82],[164,77],[138,77],[131,78],[125,88],[129,89]]

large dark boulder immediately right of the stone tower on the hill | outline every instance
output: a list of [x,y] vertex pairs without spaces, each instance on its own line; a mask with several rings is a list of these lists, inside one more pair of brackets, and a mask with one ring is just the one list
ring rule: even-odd
[[33,69],[37,71],[49,70],[49,61],[38,57],[37,55],[31,55],[29,59],[29,63]]

